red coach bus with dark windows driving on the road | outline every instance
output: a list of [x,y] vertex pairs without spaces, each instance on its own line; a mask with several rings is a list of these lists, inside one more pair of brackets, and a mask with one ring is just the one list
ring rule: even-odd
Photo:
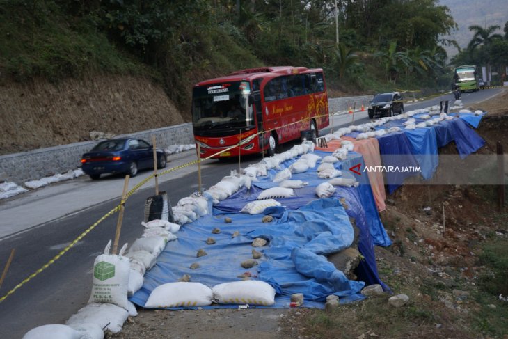
[[[299,139],[300,132],[327,127],[328,95],[323,70],[251,68],[201,81],[193,88],[192,121],[200,157],[235,157]],[[256,135],[258,132],[262,132]]]

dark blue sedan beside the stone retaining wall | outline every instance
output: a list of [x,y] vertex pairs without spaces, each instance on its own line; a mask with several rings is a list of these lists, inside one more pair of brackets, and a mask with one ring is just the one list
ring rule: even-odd
[[[139,170],[153,167],[152,145],[141,139],[101,141],[81,157],[81,169],[93,180],[106,173],[125,173],[135,177]],[[166,154],[157,150],[157,168],[164,167]]]

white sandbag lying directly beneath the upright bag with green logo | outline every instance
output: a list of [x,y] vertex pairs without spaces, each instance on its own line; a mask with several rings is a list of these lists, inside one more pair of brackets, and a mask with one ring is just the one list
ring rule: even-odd
[[65,323],[68,326],[79,324],[97,324],[104,331],[113,333],[122,331],[122,326],[129,317],[129,312],[112,303],[89,303],[78,313],[72,315]]

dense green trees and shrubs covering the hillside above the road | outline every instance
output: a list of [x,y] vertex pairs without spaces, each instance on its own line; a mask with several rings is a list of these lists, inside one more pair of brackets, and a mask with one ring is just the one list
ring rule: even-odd
[[448,88],[437,0],[0,0],[2,81],[150,77],[183,111],[197,81],[260,65],[324,68],[344,93]]

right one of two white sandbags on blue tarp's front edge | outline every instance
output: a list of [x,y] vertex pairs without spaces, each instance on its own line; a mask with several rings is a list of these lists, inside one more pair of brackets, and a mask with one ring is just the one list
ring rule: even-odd
[[275,289],[264,281],[246,280],[222,283],[212,288],[217,303],[248,303],[271,306],[275,303]]

